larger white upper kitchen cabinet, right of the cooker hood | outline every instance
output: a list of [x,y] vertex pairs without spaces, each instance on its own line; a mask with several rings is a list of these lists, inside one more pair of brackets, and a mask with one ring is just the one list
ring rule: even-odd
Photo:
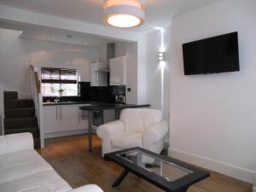
[[119,56],[110,60],[110,85],[126,85],[126,57]]

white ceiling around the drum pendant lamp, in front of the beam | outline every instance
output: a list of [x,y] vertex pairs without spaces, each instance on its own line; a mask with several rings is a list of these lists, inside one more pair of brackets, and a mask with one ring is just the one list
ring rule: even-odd
[[[173,16],[219,1],[222,0],[146,0],[144,25],[125,30],[144,32],[155,26],[170,26]],[[105,26],[102,22],[102,2],[103,0],[0,0],[0,5]]]

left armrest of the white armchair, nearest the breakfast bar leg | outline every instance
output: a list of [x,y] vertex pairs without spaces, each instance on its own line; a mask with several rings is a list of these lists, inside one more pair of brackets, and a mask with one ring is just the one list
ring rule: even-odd
[[115,120],[97,128],[97,136],[102,138],[102,157],[111,151],[110,139],[125,131],[125,125],[121,120]]

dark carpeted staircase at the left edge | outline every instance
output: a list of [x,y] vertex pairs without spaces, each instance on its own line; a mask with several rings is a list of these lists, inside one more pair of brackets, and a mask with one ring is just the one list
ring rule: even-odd
[[5,91],[4,134],[31,132],[34,148],[40,148],[40,131],[32,99],[18,99],[18,92]]

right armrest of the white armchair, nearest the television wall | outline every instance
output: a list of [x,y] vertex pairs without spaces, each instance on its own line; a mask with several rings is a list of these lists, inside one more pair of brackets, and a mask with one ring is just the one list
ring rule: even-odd
[[143,132],[143,143],[159,143],[160,140],[166,136],[167,132],[168,125],[165,120],[162,120],[159,123],[150,126],[147,131]]

